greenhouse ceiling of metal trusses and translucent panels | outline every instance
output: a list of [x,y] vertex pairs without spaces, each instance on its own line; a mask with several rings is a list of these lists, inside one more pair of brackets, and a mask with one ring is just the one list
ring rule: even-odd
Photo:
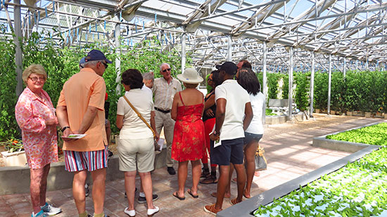
[[[133,46],[156,37],[163,49],[186,51],[196,68],[247,59],[262,70],[386,68],[387,0],[0,0],[0,20],[23,37],[45,32],[63,46],[98,42]],[[118,31],[119,30],[119,31]],[[115,34],[120,32],[120,34]],[[44,43],[44,39],[42,39]],[[267,49],[267,50],[265,50]],[[312,58],[315,57],[315,58]]]

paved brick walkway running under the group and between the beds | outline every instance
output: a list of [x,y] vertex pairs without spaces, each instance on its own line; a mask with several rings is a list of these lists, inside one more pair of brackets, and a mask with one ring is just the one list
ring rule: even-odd
[[[310,145],[313,137],[384,121],[383,119],[366,119],[364,117],[331,116],[328,118],[324,114],[316,114],[315,117],[315,121],[266,126],[265,136],[260,145],[265,147],[268,169],[261,171],[260,176],[254,178],[252,195],[258,195],[265,190],[350,154],[312,147]],[[175,169],[177,169],[177,165],[175,165]],[[190,178],[191,173],[189,172],[186,189],[191,186]],[[211,192],[216,190],[215,184],[199,185],[198,199],[186,194],[186,199],[179,201],[172,197],[172,192],[177,190],[177,176],[170,176],[163,168],[154,171],[152,179],[154,192],[159,196],[154,204],[160,207],[160,212],[155,216],[211,216],[203,211],[203,206],[215,203],[215,197],[210,196]],[[139,178],[137,178],[136,185],[139,188]],[[231,195],[231,198],[236,197],[236,184],[234,183],[231,184]],[[58,217],[77,216],[71,189],[47,192],[47,200],[62,208],[63,212],[58,214]],[[86,203],[87,211],[92,213],[91,195],[87,197]],[[0,206],[0,216],[2,217],[31,216],[32,207],[29,194],[0,196],[0,204],[2,204]],[[105,213],[109,216],[127,216],[123,212],[126,206],[124,180],[106,183]],[[224,199],[223,208],[226,209],[229,206],[231,206],[229,199]],[[146,216],[144,204],[136,203],[135,207],[137,216]]]

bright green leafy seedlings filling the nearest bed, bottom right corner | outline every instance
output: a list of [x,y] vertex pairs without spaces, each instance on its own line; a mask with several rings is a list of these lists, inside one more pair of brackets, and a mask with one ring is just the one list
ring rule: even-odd
[[255,216],[386,216],[387,148],[381,147],[253,211]]

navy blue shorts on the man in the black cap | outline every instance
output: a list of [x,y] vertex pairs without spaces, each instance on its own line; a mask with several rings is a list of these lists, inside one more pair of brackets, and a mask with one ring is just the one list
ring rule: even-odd
[[210,148],[211,164],[243,164],[243,138],[222,140],[222,145],[217,147],[214,147],[214,141],[211,140]]

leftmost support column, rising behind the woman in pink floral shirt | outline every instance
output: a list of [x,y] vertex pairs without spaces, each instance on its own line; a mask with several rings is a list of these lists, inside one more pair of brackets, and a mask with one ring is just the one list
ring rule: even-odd
[[20,42],[23,42],[22,35],[22,25],[21,25],[21,11],[20,11],[20,0],[15,0],[15,6],[13,7],[13,20],[15,22],[15,37],[13,37],[13,41],[15,42],[15,65],[16,65],[16,96],[19,96],[20,93],[23,92],[23,57],[22,57],[22,48],[20,46]]

